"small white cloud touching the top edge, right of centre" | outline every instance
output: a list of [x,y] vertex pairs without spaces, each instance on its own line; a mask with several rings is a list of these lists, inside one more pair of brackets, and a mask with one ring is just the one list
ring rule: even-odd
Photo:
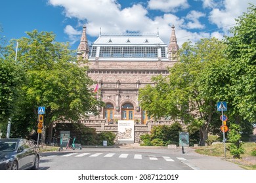
[[163,12],[176,12],[178,9],[188,8],[187,0],[150,0],[148,8],[152,10],[161,10]]

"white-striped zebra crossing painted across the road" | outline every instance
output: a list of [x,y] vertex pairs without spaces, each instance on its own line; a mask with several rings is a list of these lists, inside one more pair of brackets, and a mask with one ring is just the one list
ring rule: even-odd
[[118,154],[118,153],[90,153],[90,152],[85,152],[85,153],[77,153],[77,152],[72,152],[72,153],[68,153],[68,154],[54,154],[51,156],[47,156],[48,158],[51,157],[55,157],[55,156],[60,156],[60,157],[75,157],[75,158],[82,158],[82,157],[89,157],[89,158],[96,158],[96,157],[104,157],[104,158],[113,158],[114,156],[116,156],[117,158],[133,158],[133,159],[143,159],[143,158],[148,158],[152,161],[158,161],[159,159],[164,159],[165,161],[169,161],[169,162],[173,162],[173,161],[177,161],[177,160],[182,160],[182,161],[186,161],[185,158],[182,157],[175,157],[175,158],[171,158],[169,156],[155,156],[155,155],[148,155],[148,156],[142,156],[142,154]]

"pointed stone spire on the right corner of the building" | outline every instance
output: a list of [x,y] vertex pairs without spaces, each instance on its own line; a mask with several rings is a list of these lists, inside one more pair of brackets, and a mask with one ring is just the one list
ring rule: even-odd
[[175,26],[171,26],[171,38],[168,46],[168,58],[169,60],[177,60],[177,51],[179,50],[179,45],[177,44],[177,38],[175,35]]

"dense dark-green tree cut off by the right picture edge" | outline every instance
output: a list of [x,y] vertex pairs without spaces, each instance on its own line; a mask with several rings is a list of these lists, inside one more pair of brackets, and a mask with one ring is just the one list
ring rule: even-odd
[[247,12],[236,19],[226,37],[226,55],[230,73],[229,96],[236,122],[242,119],[256,122],[256,7],[250,4]]

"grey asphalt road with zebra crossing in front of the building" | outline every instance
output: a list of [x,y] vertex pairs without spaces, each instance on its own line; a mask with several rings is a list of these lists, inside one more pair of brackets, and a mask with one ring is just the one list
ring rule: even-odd
[[242,170],[221,158],[196,154],[192,148],[83,148],[42,152],[41,170]]

